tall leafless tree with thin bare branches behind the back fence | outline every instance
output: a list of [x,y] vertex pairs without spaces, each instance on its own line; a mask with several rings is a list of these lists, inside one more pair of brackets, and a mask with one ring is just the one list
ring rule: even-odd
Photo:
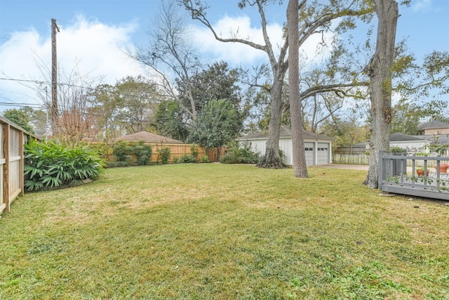
[[[163,1],[160,13],[154,20],[150,37],[151,44],[147,48],[140,48],[130,56],[138,62],[147,65],[156,73],[155,82],[168,98],[179,103],[193,120],[197,111],[192,96],[192,74],[201,67],[199,55],[192,44],[192,33],[186,25],[187,15],[180,9],[176,1]],[[182,89],[176,89],[174,82]],[[178,91],[184,91],[179,95]],[[186,105],[183,99],[187,99]]]

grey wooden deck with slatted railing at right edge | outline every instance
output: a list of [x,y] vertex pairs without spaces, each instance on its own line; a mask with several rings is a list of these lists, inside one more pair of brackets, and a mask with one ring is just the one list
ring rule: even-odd
[[[449,200],[449,174],[440,168],[441,164],[447,163],[449,157],[391,155],[380,152],[379,189],[389,193]],[[416,171],[421,165],[424,166],[424,175],[418,176]]]

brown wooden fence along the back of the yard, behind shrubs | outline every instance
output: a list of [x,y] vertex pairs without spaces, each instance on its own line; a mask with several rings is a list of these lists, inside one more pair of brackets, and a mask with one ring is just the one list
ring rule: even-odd
[[[127,142],[127,143],[137,143],[137,142]],[[161,158],[159,157],[158,149],[163,147],[170,148],[170,159],[168,162],[173,163],[175,161],[175,157],[181,158],[183,155],[192,155],[192,145],[193,144],[181,144],[181,143],[152,143],[145,142],[145,145],[152,146],[152,156],[149,159],[149,164],[157,164],[161,163]],[[209,157],[210,162],[217,162],[219,159],[218,148],[208,149],[203,148],[200,145],[196,145],[198,150],[198,159],[203,158],[203,156],[207,155]],[[220,157],[225,154],[226,148],[221,148]],[[136,155],[130,155],[132,157],[133,162],[137,162]],[[106,159],[109,162],[116,162],[116,157],[112,154],[112,152],[107,153]]]

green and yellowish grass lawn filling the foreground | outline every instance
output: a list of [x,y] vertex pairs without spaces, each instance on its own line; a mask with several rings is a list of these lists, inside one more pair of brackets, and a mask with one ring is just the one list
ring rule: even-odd
[[449,299],[449,207],[364,171],[176,164],[27,193],[0,299]]

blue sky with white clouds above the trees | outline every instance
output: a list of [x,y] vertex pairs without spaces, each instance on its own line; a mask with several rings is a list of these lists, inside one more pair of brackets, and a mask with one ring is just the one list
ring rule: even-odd
[[[267,11],[274,45],[281,43],[281,28],[286,22],[287,1],[283,2],[283,6],[271,6]],[[260,41],[260,21],[254,8],[241,10],[236,0],[207,3],[208,18],[217,32],[225,36],[238,31],[242,37]],[[45,81],[38,65],[51,70],[52,18],[60,27],[60,70],[76,69],[112,85],[128,75],[147,74],[142,65],[126,56],[126,51],[148,43],[148,32],[160,5],[161,0],[0,0],[0,112],[42,105],[36,88],[44,89],[46,84],[36,87],[32,81]],[[449,51],[449,0],[412,0],[409,7],[400,6],[399,13],[396,41],[406,38],[418,59],[431,51]],[[189,24],[191,39],[204,63],[225,60],[236,67],[266,62],[262,51],[220,43],[199,22],[192,20]],[[354,36],[362,40],[366,28],[354,31]],[[309,41],[308,56],[314,56],[317,42]]]

